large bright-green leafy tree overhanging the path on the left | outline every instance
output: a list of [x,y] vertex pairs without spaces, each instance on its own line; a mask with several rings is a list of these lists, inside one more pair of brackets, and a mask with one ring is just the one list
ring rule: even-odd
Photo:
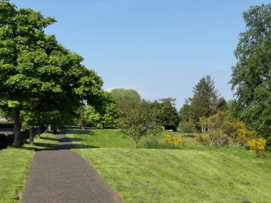
[[20,144],[21,110],[51,111],[48,122],[59,122],[56,113],[72,115],[83,100],[97,104],[101,95],[102,80],[81,65],[83,58],[44,33],[53,22],[0,1],[0,108],[14,119],[14,146]]

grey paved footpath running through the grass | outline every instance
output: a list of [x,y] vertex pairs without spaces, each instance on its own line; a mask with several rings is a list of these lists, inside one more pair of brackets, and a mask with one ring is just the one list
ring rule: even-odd
[[123,203],[86,160],[68,150],[68,137],[56,138],[59,149],[35,152],[22,202]]

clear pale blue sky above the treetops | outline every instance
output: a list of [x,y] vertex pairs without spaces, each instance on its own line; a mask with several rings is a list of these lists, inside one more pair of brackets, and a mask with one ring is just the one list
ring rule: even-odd
[[230,67],[242,11],[258,0],[11,0],[56,18],[46,33],[79,53],[103,88],[133,88],[143,98],[176,98],[179,109],[200,78],[210,75],[232,98]]

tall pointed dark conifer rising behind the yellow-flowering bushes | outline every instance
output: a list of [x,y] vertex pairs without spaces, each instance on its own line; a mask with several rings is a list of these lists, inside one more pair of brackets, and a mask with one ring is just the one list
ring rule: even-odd
[[190,98],[190,118],[198,123],[200,117],[209,117],[215,113],[215,105],[218,102],[219,94],[210,76],[200,79],[193,88],[193,98]]

